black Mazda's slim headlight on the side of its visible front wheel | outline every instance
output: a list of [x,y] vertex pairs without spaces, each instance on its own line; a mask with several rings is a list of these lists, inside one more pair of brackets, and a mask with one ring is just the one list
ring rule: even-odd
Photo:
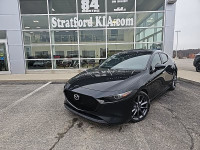
[[128,97],[129,95],[131,95],[131,93],[132,93],[132,91],[128,91],[128,92],[117,94],[117,95],[114,95],[114,96],[109,96],[109,97],[104,97],[104,98],[101,98],[101,99],[97,99],[97,101],[100,104],[112,103],[112,102],[115,102],[115,101],[118,101],[118,100],[121,100],[123,98]]

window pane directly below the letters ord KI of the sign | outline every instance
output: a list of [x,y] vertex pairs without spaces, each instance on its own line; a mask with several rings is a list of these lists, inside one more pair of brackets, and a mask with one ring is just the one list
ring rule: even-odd
[[79,31],[80,43],[86,42],[106,42],[105,30],[83,30]]

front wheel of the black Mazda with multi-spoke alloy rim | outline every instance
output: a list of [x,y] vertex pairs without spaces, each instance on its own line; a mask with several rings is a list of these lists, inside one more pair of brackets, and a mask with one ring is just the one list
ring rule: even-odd
[[131,111],[130,122],[136,123],[142,121],[147,116],[149,109],[149,96],[145,92],[140,91],[133,100],[133,109]]

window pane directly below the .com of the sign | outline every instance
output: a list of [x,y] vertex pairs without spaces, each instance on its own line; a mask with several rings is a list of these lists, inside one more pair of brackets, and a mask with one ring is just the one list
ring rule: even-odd
[[134,42],[134,29],[109,29],[107,34],[109,43]]

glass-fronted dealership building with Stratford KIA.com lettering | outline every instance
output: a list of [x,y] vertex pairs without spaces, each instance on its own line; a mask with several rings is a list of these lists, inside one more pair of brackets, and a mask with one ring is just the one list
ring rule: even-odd
[[81,71],[126,50],[172,56],[176,0],[0,0],[0,74]]

